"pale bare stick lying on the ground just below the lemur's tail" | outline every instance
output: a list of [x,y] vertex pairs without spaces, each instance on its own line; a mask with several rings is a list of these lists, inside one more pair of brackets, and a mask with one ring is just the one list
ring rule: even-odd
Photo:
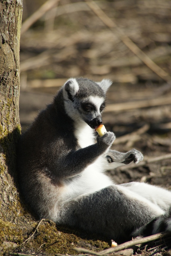
[[87,249],[84,249],[84,248],[74,248],[74,250],[76,250],[77,252],[83,252],[83,253],[88,253],[88,254],[91,254],[91,255],[101,256],[101,255],[107,255],[107,254],[113,253],[113,252],[119,252],[121,250],[128,249],[128,248],[130,248],[132,246],[135,246],[137,244],[149,243],[151,241],[155,241],[155,240],[164,238],[166,236],[169,236],[170,234],[171,233],[163,232],[163,233],[158,233],[158,234],[148,236],[148,237],[134,239],[134,240],[128,241],[126,243],[119,244],[116,247],[112,247],[112,248],[103,250],[101,252],[93,252],[91,250],[87,250]]

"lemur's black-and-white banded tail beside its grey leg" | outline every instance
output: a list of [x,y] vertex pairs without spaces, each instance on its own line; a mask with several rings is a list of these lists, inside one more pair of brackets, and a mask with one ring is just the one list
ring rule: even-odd
[[132,236],[150,236],[160,232],[168,231],[171,232],[171,208],[168,211],[153,219],[148,224],[143,225],[132,233]]

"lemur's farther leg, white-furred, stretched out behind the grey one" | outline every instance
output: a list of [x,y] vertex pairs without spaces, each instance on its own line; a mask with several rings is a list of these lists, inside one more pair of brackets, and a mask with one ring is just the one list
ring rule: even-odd
[[153,186],[147,183],[130,182],[125,184],[116,185],[119,187],[125,187],[150,200],[150,202],[158,205],[162,210],[167,211],[171,206],[171,192],[161,187]]

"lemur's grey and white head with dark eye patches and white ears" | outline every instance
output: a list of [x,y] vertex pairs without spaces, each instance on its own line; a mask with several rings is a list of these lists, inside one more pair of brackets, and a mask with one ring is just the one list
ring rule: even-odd
[[71,78],[62,87],[65,111],[76,122],[84,121],[91,128],[102,123],[106,91],[112,82],[94,82],[87,78]]

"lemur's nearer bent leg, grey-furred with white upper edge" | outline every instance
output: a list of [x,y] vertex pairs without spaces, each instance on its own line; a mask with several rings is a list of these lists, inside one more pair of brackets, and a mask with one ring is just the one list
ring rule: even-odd
[[58,224],[103,234],[116,241],[129,239],[136,228],[164,213],[143,197],[115,185],[68,202],[62,212]]

